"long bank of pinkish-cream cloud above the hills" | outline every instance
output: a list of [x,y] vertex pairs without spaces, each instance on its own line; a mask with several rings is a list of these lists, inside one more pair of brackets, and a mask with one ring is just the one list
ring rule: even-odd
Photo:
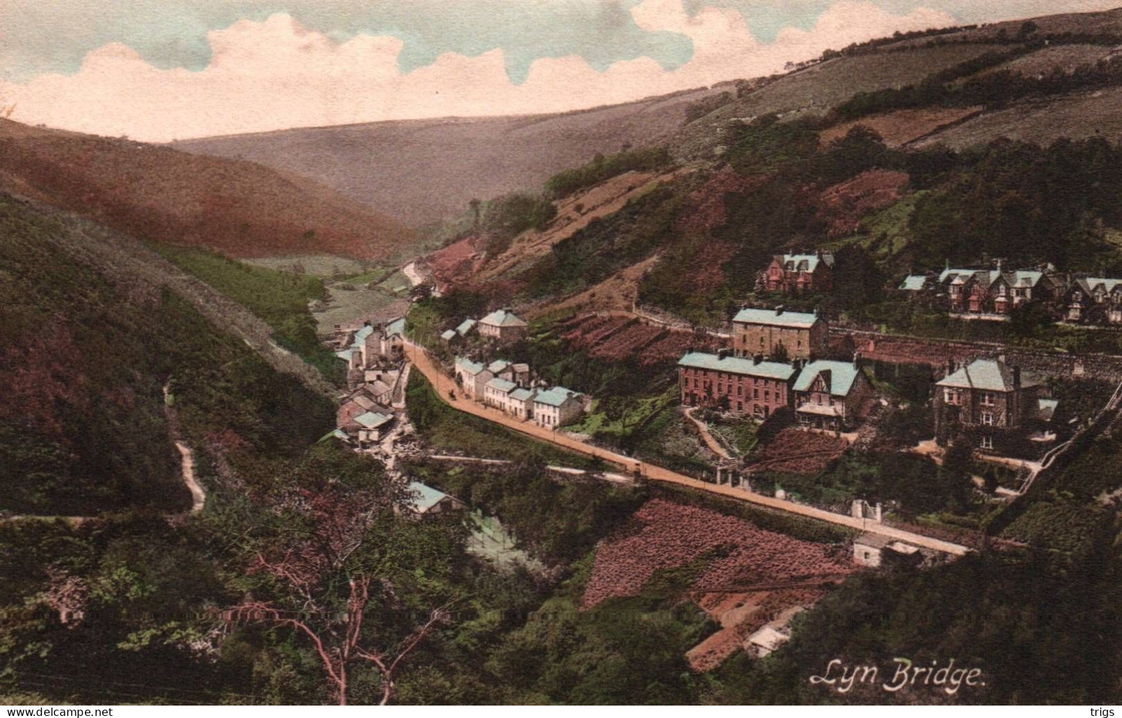
[[445,54],[407,74],[402,42],[357,36],[334,43],[287,15],[240,20],[208,35],[211,64],[159,70],[120,44],[89,53],[73,75],[45,74],[26,84],[0,81],[12,119],[151,141],[287,127],[447,116],[564,111],[752,77],[828,47],[895,30],[951,25],[942,12],[892,15],[872,2],[839,0],[809,30],[788,28],[760,43],[732,9],[705,7],[692,17],[681,0],[644,0],[632,10],[646,30],[688,36],[693,57],[675,70],[651,58],[620,61],[605,72],[579,56],[541,58],[526,82],[509,82],[499,49],[476,57]]

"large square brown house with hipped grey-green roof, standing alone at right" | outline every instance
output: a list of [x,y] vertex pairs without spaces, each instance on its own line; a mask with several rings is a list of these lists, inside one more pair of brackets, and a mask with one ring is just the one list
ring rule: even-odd
[[976,359],[949,371],[935,389],[936,436],[946,439],[976,430],[981,449],[993,449],[997,432],[1027,427],[1051,405],[1041,404],[1040,384],[1034,378],[1001,359]]

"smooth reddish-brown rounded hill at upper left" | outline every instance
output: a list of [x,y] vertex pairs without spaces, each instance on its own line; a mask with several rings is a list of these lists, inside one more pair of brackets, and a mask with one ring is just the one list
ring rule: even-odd
[[0,120],[0,188],[142,239],[234,257],[384,258],[412,231],[303,177],[240,159]]

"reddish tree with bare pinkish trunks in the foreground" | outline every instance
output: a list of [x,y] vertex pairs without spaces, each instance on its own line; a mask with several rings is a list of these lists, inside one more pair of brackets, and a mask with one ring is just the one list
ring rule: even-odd
[[[374,480],[364,477],[374,473],[367,462],[355,468],[325,452],[305,462],[294,486],[270,496],[279,507],[278,521],[256,542],[249,573],[264,576],[263,589],[274,597],[247,596],[220,618],[228,627],[263,623],[303,635],[323,666],[329,694],[340,706],[347,705],[352,666],[374,669],[380,705],[386,705],[402,662],[449,614],[435,608],[420,624],[395,623],[396,616],[408,613],[401,610],[392,578],[399,574],[398,567],[370,547],[392,544],[394,537],[387,534],[415,523],[394,515],[407,490],[380,472]],[[375,530],[380,535],[368,541]],[[367,620],[375,605],[389,616],[379,626]]]

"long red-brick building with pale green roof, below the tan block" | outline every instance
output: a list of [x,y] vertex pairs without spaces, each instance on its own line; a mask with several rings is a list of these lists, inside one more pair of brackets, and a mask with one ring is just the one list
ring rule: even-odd
[[726,351],[689,352],[678,361],[682,404],[720,407],[758,420],[791,405],[794,372],[789,363],[732,357]]

